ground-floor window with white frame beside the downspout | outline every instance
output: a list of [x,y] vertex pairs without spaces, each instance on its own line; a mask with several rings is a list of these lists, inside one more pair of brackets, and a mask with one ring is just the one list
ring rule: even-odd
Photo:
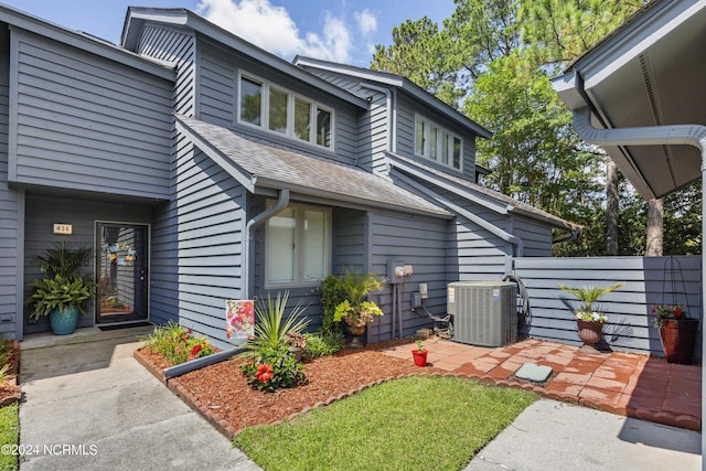
[[290,204],[267,221],[265,232],[268,287],[312,286],[329,275],[330,210]]

